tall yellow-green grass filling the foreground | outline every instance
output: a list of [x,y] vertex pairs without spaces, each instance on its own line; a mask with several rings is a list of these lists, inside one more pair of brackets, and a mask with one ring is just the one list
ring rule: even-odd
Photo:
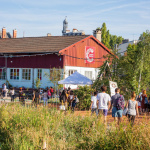
[[[144,121],[144,120],[143,120]],[[0,107],[0,148],[2,150],[47,149],[150,149],[150,125],[133,128],[126,123],[109,128],[101,118],[75,116],[44,107],[18,104]]]

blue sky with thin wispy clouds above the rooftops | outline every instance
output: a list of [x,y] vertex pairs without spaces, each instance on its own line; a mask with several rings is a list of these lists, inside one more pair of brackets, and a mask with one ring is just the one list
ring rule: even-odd
[[105,22],[111,34],[133,40],[150,30],[150,0],[0,0],[0,28],[25,37],[62,35],[68,28],[92,34]]

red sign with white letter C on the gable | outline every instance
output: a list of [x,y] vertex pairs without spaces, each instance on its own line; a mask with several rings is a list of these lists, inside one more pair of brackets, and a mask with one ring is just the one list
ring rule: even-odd
[[95,60],[95,47],[85,47],[85,63],[94,63]]

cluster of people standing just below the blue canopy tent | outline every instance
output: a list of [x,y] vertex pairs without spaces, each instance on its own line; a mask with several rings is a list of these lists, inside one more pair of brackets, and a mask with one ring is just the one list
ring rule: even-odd
[[64,89],[62,93],[60,93],[60,102],[65,106],[65,110],[71,109],[74,111],[79,99],[77,98],[77,95],[68,88],[68,90]]

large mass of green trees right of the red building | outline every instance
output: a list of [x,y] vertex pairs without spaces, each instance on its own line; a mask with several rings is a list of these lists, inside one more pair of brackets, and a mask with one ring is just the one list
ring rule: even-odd
[[[143,37],[143,38],[142,38]],[[121,88],[122,94],[126,99],[130,98],[131,91],[139,93],[140,88],[146,89],[150,85],[150,33],[147,31],[140,36],[141,41],[138,44],[129,44],[127,55],[120,56],[114,51],[117,57],[108,55],[107,61],[110,64],[110,73],[101,75],[105,63],[100,67],[99,77],[94,85],[105,84],[109,86],[109,80],[117,82]]]

